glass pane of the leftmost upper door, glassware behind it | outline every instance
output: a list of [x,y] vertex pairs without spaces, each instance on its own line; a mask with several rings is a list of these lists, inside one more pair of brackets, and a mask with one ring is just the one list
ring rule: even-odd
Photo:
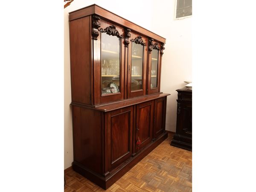
[[120,38],[101,33],[102,95],[118,93],[120,88]]

